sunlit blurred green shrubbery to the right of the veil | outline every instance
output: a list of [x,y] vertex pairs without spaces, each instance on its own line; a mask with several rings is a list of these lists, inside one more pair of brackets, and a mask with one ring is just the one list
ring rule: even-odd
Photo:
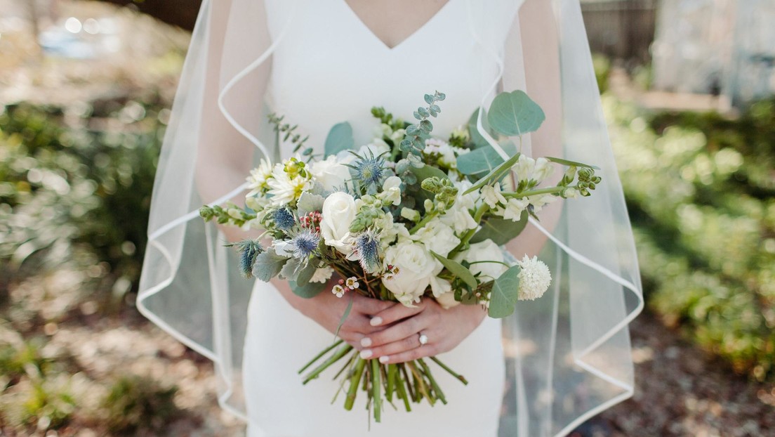
[[649,305],[734,369],[775,374],[775,102],[736,120],[604,98]]

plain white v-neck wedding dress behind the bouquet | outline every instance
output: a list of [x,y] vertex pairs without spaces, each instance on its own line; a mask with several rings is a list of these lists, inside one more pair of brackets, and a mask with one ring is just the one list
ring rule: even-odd
[[[267,1],[270,33],[279,27],[273,16],[286,7]],[[344,0],[308,2],[294,16],[293,29],[274,51],[267,102],[289,123],[308,134],[308,145],[322,151],[328,130],[349,121],[356,145],[368,144],[378,127],[372,106],[413,120],[423,95],[446,93],[434,134],[449,135],[467,123],[497,73],[467,30],[465,0],[449,0],[425,25],[387,47],[363,24]],[[314,37],[311,37],[314,36]],[[281,150],[283,158],[291,147]],[[324,293],[329,293],[328,290]],[[435,375],[449,404],[387,405],[382,423],[372,423],[363,394],[353,411],[343,409],[343,395],[331,404],[338,383],[334,367],[306,386],[297,371],[334,336],[291,307],[270,283],[256,281],[248,308],[243,387],[251,437],[353,437],[369,435],[494,437],[498,434],[505,368],[501,322],[487,317],[451,352],[439,355],[467,377],[463,386],[443,369]]]

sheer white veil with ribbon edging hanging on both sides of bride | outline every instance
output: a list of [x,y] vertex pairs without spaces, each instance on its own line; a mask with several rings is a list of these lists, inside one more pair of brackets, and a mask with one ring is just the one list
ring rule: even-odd
[[[243,419],[240,373],[253,283],[239,277],[236,254],[223,246],[214,224],[203,223],[198,209],[228,199],[239,203],[247,168],[264,156],[277,158],[258,78],[270,68],[284,34],[298,31],[294,11],[309,0],[283,1],[291,7],[273,10],[277,0],[202,4],[160,154],[137,300],[151,321],[212,359],[219,403]],[[522,58],[523,0],[460,1],[468,2],[472,38],[501,66],[492,86],[525,88],[522,62],[514,61]],[[567,435],[632,396],[628,324],[643,305],[579,0],[552,2],[560,42],[563,158],[597,165],[603,182],[590,198],[565,202],[548,229],[531,222],[549,238],[540,257],[554,280],[544,297],[520,302],[504,323],[508,390],[501,435],[509,436]],[[279,35],[274,40],[271,26],[279,26],[272,29]],[[240,161],[244,171],[201,171],[222,156]]]

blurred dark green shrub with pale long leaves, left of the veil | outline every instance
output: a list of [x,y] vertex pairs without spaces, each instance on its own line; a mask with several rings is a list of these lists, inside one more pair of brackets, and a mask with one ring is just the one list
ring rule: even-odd
[[[55,267],[81,251],[94,255],[87,262],[107,262],[112,279],[136,283],[165,113],[153,96],[144,103],[5,107],[0,113],[5,271]],[[114,291],[129,291],[124,288]]]

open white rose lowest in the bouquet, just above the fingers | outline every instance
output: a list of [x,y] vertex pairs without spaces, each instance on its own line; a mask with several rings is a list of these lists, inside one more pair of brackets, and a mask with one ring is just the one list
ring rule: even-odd
[[432,276],[443,269],[425,245],[408,241],[387,248],[384,264],[398,267],[398,274],[391,279],[382,278],[382,283],[407,307],[419,302]]

